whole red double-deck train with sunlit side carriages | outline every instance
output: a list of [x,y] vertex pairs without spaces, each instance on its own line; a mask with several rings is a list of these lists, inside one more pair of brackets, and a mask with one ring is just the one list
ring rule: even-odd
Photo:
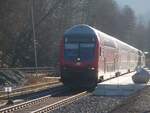
[[61,80],[71,87],[92,88],[144,65],[142,51],[88,25],[68,29],[60,44]]

